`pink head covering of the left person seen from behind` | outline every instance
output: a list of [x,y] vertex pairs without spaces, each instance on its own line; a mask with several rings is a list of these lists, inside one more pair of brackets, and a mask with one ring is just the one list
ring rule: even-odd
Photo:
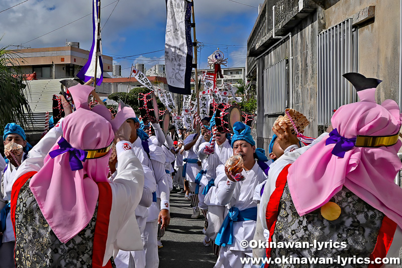
[[[115,137],[114,130],[124,122],[120,120],[120,125],[119,122],[113,122],[105,106],[99,105],[90,111],[85,105],[90,89],[85,85],[69,89],[77,110],[61,122],[63,134],[59,140],[64,138],[75,149],[108,147]],[[134,113],[128,109],[125,112],[125,116],[119,115],[119,118],[130,118]],[[50,152],[59,148],[56,143]],[[70,167],[69,152],[54,158],[47,155],[43,167],[32,177],[30,189],[43,216],[61,242],[65,243],[77,235],[92,218],[99,194],[96,183],[109,182],[107,176],[111,153],[96,159],[85,159],[83,168],[74,171]]]

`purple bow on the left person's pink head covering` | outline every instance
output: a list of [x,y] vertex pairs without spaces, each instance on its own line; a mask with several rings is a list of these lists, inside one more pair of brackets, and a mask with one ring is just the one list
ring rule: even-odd
[[63,137],[60,138],[57,144],[60,146],[60,149],[49,152],[50,157],[55,158],[60,154],[70,152],[69,162],[71,170],[75,171],[84,168],[82,162],[86,159],[86,155],[88,154],[87,151],[71,147],[71,144],[69,144]]

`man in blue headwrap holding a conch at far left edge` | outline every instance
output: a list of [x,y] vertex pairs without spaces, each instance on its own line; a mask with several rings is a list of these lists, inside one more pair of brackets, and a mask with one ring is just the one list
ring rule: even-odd
[[3,233],[2,240],[0,240],[0,259],[2,260],[1,267],[15,267],[14,261],[14,246],[15,246],[15,237],[13,231],[13,225],[11,222],[11,214],[10,214],[10,201],[11,201],[11,190],[13,188],[13,183],[15,180],[15,174],[20,166],[20,164],[27,158],[28,151],[32,148],[32,146],[27,142],[27,137],[24,129],[15,123],[7,124],[4,129],[4,146],[7,147],[16,147],[16,145],[22,146],[21,149],[9,150],[5,149],[5,155],[7,161],[2,158],[2,162],[6,163],[7,166],[1,169],[2,171],[2,196],[0,200],[1,204],[4,206],[0,207],[1,215],[3,216],[0,219],[1,227],[0,233]]

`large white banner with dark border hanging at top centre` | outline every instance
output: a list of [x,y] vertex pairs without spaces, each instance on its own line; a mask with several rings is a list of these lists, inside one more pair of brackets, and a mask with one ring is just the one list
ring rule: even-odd
[[191,6],[183,0],[166,0],[165,65],[169,91],[191,94]]

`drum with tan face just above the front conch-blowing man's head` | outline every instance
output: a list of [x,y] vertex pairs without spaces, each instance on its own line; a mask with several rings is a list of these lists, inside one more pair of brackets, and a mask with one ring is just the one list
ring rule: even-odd
[[233,125],[242,121],[242,111],[238,104],[218,105],[215,115],[215,124],[219,132],[233,133]]

